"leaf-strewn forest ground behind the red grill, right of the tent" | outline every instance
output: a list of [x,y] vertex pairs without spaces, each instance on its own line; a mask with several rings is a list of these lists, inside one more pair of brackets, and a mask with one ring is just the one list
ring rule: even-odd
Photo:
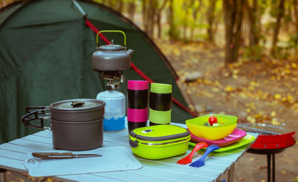
[[[224,51],[208,43],[156,42],[180,80],[193,71],[202,74],[193,82],[183,83],[195,105],[208,104],[216,113],[240,116],[239,122],[272,125],[284,122],[288,109],[298,113],[297,60],[264,56],[260,62],[249,62],[240,56],[238,62],[224,66]],[[209,112],[200,111],[201,115]]]

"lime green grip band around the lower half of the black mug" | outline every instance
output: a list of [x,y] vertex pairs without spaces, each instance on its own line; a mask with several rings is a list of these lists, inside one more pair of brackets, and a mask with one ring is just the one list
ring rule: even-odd
[[155,111],[149,108],[149,121],[157,124],[169,124],[171,122],[171,110],[170,111]]

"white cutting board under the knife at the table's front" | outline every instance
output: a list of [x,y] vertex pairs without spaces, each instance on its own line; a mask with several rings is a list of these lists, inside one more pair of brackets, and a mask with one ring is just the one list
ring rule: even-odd
[[24,165],[26,169],[28,169],[29,175],[34,177],[75,175],[142,168],[142,164],[125,147],[102,147],[84,151],[52,150],[36,152],[71,152],[73,154],[100,154],[103,156],[69,159],[41,159],[33,157],[32,153],[28,153]]

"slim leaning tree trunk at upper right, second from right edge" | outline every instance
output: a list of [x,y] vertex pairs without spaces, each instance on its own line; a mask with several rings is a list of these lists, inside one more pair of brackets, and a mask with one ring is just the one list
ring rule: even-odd
[[280,30],[281,19],[283,18],[283,14],[285,12],[284,5],[285,5],[285,0],[280,0],[278,13],[277,13],[277,17],[276,17],[276,24],[275,24],[274,32],[273,32],[272,47],[270,50],[270,53],[272,56],[275,55],[275,51],[276,51],[277,36],[278,36],[279,30]]

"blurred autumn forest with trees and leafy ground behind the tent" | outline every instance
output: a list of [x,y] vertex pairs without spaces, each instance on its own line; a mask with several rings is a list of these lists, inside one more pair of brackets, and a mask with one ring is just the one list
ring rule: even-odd
[[[94,1],[153,39],[197,115],[235,115],[239,123],[298,132],[298,0]],[[0,8],[12,2],[0,0]],[[277,181],[298,181],[297,153],[296,144],[277,154]],[[248,153],[235,179],[264,182],[266,172],[266,157]]]

